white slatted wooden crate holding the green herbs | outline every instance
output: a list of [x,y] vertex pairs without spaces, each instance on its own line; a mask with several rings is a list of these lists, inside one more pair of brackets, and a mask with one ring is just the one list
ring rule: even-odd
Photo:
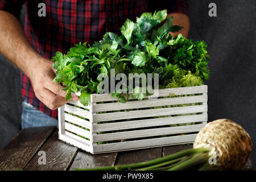
[[99,154],[192,143],[206,123],[207,85],[160,89],[158,98],[124,104],[92,94],[89,106],[69,101],[59,108],[59,139]]

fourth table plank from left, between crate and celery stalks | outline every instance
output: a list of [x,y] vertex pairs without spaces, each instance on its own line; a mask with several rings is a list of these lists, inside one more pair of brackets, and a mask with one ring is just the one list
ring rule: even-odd
[[162,147],[118,152],[115,165],[134,164],[162,157]]

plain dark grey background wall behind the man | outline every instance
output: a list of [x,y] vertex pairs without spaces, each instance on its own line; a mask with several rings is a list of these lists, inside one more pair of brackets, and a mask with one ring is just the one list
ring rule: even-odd
[[[211,70],[208,85],[208,121],[229,118],[256,143],[256,1],[191,0],[189,38],[208,44]],[[217,17],[208,5],[217,4]],[[21,15],[21,19],[23,15]],[[20,130],[22,112],[19,70],[0,55],[0,149]],[[256,164],[255,147],[251,154]]]

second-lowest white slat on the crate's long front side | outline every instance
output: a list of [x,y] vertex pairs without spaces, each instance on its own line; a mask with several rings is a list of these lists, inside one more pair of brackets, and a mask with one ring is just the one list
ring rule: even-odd
[[156,129],[144,129],[135,131],[123,131],[117,133],[97,134],[93,135],[94,142],[105,142],[112,140],[131,139],[131,138],[143,138],[143,137],[155,137],[159,135],[171,135],[171,134],[183,134],[193,133],[200,131],[205,125],[187,125],[187,126],[174,126],[163,127]]

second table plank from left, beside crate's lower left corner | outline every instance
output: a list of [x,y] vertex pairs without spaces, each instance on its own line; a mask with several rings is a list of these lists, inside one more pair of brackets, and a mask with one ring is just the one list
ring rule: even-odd
[[39,164],[40,155],[36,155],[31,159],[30,163],[24,170],[66,170],[71,165],[72,160],[77,154],[77,147],[71,146],[58,139],[57,130],[51,135],[46,143],[39,149],[39,151],[46,152],[46,164]]

